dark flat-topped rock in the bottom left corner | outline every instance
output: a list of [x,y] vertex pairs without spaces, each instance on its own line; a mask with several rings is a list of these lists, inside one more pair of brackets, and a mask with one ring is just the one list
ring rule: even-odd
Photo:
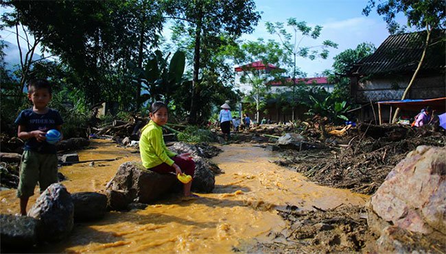
[[23,249],[37,243],[38,220],[35,218],[0,214],[0,225],[1,249],[17,251],[16,248]]

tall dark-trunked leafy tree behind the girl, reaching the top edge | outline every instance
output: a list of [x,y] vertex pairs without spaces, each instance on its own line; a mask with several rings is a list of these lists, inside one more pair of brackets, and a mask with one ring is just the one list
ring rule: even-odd
[[[189,123],[196,123],[198,112],[198,86],[200,82],[201,57],[215,48],[202,43],[218,41],[221,35],[237,38],[243,33],[253,31],[260,15],[255,11],[253,0],[165,0],[165,10],[170,18],[185,27],[187,34],[193,38],[193,77],[191,87],[191,105]],[[201,73],[202,74],[202,73]]]

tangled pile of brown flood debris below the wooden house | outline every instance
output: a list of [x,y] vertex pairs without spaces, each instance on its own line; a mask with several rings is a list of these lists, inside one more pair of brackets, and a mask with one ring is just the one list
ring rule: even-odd
[[408,152],[420,145],[444,147],[446,136],[428,127],[362,124],[318,144],[318,149],[282,149],[283,158],[275,163],[325,186],[373,194]]

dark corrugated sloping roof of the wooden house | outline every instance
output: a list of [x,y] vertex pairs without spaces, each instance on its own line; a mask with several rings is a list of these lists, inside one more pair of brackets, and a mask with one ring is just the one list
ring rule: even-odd
[[[389,36],[372,55],[357,62],[351,73],[370,75],[375,73],[403,73],[416,70],[425,42],[426,31]],[[438,70],[445,68],[445,30],[431,34],[430,47],[421,68]]]

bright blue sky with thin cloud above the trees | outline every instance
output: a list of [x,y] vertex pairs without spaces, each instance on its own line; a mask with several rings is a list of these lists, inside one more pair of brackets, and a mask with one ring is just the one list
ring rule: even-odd
[[[371,42],[375,47],[379,47],[389,36],[386,23],[375,10],[369,16],[362,15],[362,9],[367,2],[368,0],[255,0],[257,10],[263,12],[261,21],[253,34],[244,35],[242,38],[271,38],[279,41],[277,36],[271,36],[266,31],[266,21],[286,23],[287,18],[292,17],[297,21],[305,21],[312,27],[321,25],[323,28],[318,40],[304,38],[302,45],[320,45],[322,40],[331,40],[338,43],[338,49],[330,49],[327,60],[298,59],[297,65],[307,73],[307,77],[314,77],[316,73],[331,68],[333,57],[338,53],[355,49],[362,42]],[[401,16],[399,21],[405,23],[406,19]]]

